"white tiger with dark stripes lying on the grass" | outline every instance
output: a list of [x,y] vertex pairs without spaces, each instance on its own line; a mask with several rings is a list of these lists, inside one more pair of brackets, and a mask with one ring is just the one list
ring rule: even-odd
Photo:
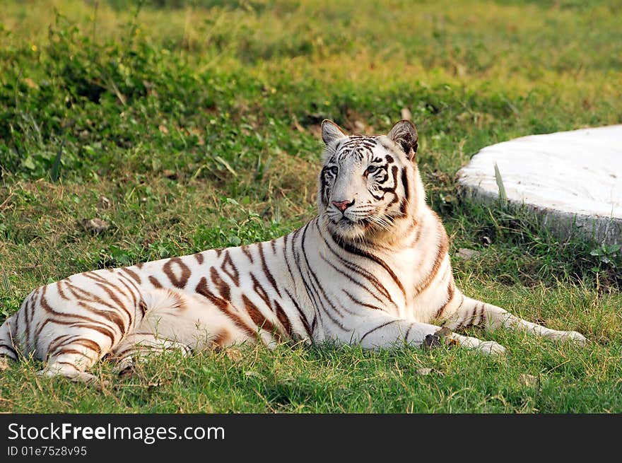
[[445,228],[426,206],[410,122],[384,136],[346,136],[324,121],[322,138],[318,215],[302,228],[278,240],[41,286],[0,327],[0,356],[33,356],[46,361],[45,375],[89,381],[87,370],[105,356],[124,370],[143,351],[192,353],[254,341],[390,348],[443,339],[503,353],[433,320],[452,330],[484,324],[585,340],[459,291]]

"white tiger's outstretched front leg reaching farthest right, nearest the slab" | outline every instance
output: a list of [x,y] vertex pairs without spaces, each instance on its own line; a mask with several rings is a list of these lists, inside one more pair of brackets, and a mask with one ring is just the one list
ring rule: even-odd
[[[462,296],[462,294],[459,296]],[[496,305],[483,303],[479,300],[467,298],[467,296],[462,297],[463,299],[460,300],[457,310],[444,323],[444,326],[451,330],[483,324],[489,330],[499,328],[513,329],[536,336],[544,336],[553,341],[575,341],[579,344],[585,344],[587,341],[585,336],[579,332],[558,331],[543,327],[512,315],[507,310]]]

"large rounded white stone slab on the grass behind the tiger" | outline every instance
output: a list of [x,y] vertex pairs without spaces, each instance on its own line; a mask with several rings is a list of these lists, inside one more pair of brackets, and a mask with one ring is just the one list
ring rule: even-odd
[[558,234],[622,243],[622,125],[523,136],[486,146],[458,172],[467,196],[524,204]]

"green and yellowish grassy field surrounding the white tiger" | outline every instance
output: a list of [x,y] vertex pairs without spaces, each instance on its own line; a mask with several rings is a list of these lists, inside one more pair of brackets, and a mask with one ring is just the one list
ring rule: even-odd
[[[508,355],[289,344],[170,354],[127,380],[98,365],[101,390],[37,377],[28,362],[0,373],[0,411],[622,412],[621,255],[558,240],[521,211],[465,204],[455,182],[483,146],[622,122],[618,1],[2,10],[0,321],[64,276],[297,228],[315,213],[319,122],[382,133],[407,109],[459,286],[590,342],[472,330]],[[89,233],[92,218],[110,228]]]

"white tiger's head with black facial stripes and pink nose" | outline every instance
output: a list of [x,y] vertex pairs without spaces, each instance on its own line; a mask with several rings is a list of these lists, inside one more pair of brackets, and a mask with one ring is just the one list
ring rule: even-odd
[[396,238],[425,204],[413,124],[397,122],[387,135],[348,136],[326,119],[322,140],[317,201],[329,232],[347,241]]

